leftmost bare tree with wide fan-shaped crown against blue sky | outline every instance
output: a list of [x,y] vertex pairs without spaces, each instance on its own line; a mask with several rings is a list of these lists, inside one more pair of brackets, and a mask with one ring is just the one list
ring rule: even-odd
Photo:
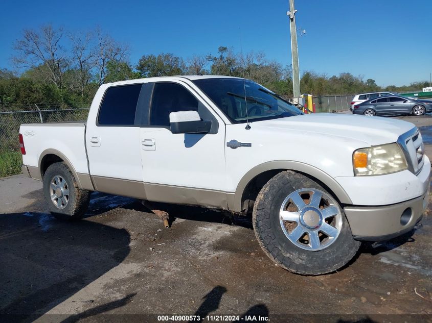
[[51,24],[44,25],[38,30],[26,29],[22,39],[14,43],[18,55],[12,58],[19,68],[33,68],[38,70],[57,87],[62,87],[63,72],[67,67],[60,41],[63,37],[61,28],[54,30]]

